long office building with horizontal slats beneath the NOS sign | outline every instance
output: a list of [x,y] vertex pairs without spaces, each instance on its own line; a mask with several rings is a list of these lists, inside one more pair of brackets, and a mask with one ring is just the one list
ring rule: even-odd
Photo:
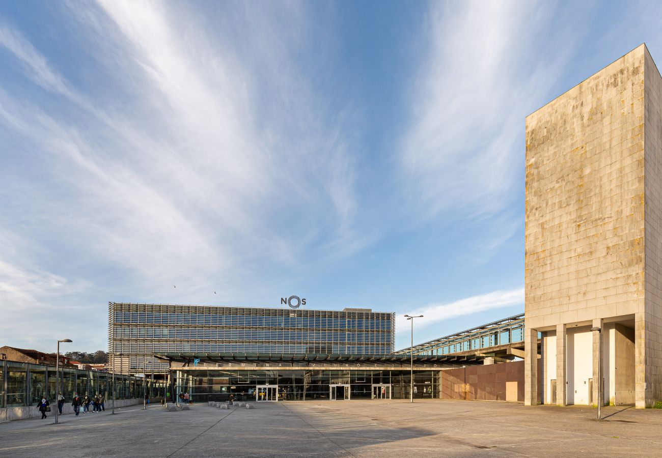
[[385,355],[395,349],[395,314],[366,308],[309,310],[109,302],[115,370],[164,374],[157,353]]

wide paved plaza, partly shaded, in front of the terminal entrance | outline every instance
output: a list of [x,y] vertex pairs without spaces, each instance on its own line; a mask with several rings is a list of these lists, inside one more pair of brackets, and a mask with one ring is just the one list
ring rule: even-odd
[[428,400],[132,406],[0,424],[11,457],[662,456],[662,410]]

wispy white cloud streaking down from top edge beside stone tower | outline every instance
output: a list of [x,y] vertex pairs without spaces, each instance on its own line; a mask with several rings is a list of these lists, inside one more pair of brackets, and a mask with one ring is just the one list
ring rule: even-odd
[[[485,224],[518,197],[524,116],[549,91],[570,51],[556,50],[546,61],[534,56],[542,30],[549,37],[551,17],[549,7],[531,2],[430,7],[429,48],[400,156],[408,206],[423,220]],[[491,232],[495,241],[504,240],[512,224],[504,234]]]

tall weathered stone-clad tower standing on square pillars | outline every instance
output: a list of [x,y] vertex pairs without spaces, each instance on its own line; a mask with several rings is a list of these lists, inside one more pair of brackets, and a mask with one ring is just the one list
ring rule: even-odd
[[642,44],[526,118],[526,404],[662,400],[661,107]]

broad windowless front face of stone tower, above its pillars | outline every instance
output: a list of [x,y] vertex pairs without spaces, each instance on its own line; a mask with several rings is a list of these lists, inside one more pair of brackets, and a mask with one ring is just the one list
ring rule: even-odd
[[644,50],[526,118],[527,326],[643,310]]

